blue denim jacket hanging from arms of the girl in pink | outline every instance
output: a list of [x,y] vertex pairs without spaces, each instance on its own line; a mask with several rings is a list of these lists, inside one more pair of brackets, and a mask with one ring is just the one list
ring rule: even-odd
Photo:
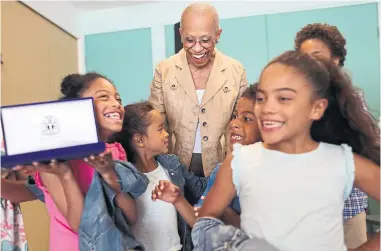
[[[147,189],[147,177],[131,163],[115,161],[122,191],[132,197],[140,196]],[[132,235],[122,210],[114,203],[116,193],[97,172],[86,194],[79,226],[79,250],[144,250]]]

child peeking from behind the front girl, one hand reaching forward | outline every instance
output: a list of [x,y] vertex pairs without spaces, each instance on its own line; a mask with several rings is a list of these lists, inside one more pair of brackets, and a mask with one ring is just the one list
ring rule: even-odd
[[[255,89],[256,84],[251,85],[246,91],[242,94],[242,97],[238,100],[237,106],[234,109],[232,120],[229,123],[229,147],[232,149],[233,144],[239,143],[242,145],[254,144],[255,142],[260,141],[259,128],[257,125],[257,120],[254,115],[254,104],[255,104]],[[216,166],[209,176],[207,188],[205,189],[201,199],[195,206],[195,210],[198,211],[199,207],[203,204],[204,197],[208,194],[209,190],[214,184],[216,174],[221,166],[221,163]],[[162,181],[161,186],[157,186],[153,192],[153,198],[164,200],[169,203],[173,203],[177,207],[182,206],[182,208],[190,208],[189,206],[179,205],[177,200],[179,198],[179,193],[174,193],[172,191],[178,191],[175,185],[170,184],[169,182]],[[186,200],[181,200],[183,203],[187,203]],[[182,214],[187,214],[185,218],[193,217],[193,221],[189,222],[193,226],[193,223],[196,221],[196,216],[194,216],[193,211],[181,212]],[[239,206],[239,199],[236,196],[230,207],[226,208],[221,219],[230,225],[239,227],[240,219],[239,214],[241,213],[241,208]]]

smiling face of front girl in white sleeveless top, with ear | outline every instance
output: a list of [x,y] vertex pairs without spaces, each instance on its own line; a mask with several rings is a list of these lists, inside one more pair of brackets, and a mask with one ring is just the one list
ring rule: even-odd
[[263,141],[279,146],[309,139],[312,122],[323,116],[326,105],[325,99],[314,98],[312,85],[295,68],[269,65],[262,72],[254,109]]

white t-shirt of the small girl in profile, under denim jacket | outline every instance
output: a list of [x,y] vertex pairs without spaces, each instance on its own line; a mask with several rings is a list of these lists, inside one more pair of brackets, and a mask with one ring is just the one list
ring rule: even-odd
[[152,201],[152,190],[160,180],[169,180],[167,171],[158,163],[158,167],[145,173],[149,179],[147,190],[136,198],[137,223],[131,227],[136,240],[145,250],[178,251],[181,249],[177,230],[176,208],[167,202]]

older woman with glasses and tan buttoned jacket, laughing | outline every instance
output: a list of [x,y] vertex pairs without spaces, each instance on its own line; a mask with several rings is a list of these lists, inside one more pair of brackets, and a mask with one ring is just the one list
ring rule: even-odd
[[204,176],[224,158],[222,136],[247,88],[246,72],[215,48],[222,30],[214,7],[189,5],[179,32],[183,49],[158,64],[149,100],[166,117],[170,151]]

